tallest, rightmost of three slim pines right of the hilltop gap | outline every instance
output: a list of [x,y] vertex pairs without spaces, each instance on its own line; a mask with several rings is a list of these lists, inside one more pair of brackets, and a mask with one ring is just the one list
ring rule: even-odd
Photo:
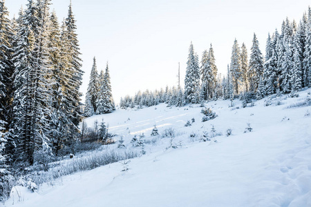
[[258,89],[259,81],[263,75],[263,55],[259,49],[259,43],[254,33],[253,44],[251,48],[251,55],[249,57],[249,90],[256,92]]

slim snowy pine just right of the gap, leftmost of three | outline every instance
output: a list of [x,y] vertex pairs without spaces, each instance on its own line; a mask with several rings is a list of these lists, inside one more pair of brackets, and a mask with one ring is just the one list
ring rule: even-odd
[[232,55],[231,55],[231,63],[230,63],[230,75],[232,79],[232,85],[234,88],[234,93],[238,95],[241,88],[241,52],[238,46],[238,41],[234,40],[234,45],[232,46]]

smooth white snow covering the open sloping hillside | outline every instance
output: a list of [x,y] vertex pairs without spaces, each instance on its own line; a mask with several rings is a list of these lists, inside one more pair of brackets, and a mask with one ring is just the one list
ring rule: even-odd
[[[309,91],[274,98],[271,106],[265,99],[247,108],[238,100],[232,108],[229,101],[210,101],[218,117],[204,123],[198,106],[164,104],[90,117],[88,126],[104,119],[127,149],[142,133],[156,143],[146,144],[147,154],[132,159],[127,172],[115,163],[62,177],[35,193],[17,186],[5,206],[311,206],[311,106],[288,108]],[[253,131],[244,133],[247,123]],[[151,137],[155,124],[160,134],[176,130],[173,142],[182,147]],[[211,135],[212,125],[223,135],[199,141],[204,132]],[[226,137],[228,128],[233,135]]]

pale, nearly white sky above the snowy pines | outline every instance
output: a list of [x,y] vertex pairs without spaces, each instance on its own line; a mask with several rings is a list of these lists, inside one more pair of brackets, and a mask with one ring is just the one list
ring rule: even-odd
[[[97,69],[109,61],[113,96],[133,95],[138,90],[177,86],[178,62],[185,79],[191,41],[201,57],[213,44],[218,71],[230,62],[234,39],[247,49],[257,34],[263,54],[268,32],[280,29],[283,19],[299,21],[310,1],[229,0],[72,0],[85,71],[85,94],[93,57]],[[10,16],[26,0],[6,0]],[[57,17],[66,17],[69,0],[52,0]],[[23,6],[26,8],[26,6]]]

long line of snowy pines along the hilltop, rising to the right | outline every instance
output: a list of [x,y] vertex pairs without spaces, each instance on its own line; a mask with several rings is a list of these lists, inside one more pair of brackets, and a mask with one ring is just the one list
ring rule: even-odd
[[[135,97],[121,99],[120,107],[153,106],[170,103],[183,106],[211,99],[262,99],[274,93],[290,94],[311,87],[311,9],[303,14],[297,26],[288,18],[278,30],[268,34],[265,58],[254,34],[251,54],[243,43],[241,48],[234,40],[231,63],[227,76],[220,77],[215,64],[212,46],[202,53],[199,62],[191,42],[185,76],[185,90],[167,89],[155,92],[138,92]],[[175,100],[178,100],[177,102]]]

